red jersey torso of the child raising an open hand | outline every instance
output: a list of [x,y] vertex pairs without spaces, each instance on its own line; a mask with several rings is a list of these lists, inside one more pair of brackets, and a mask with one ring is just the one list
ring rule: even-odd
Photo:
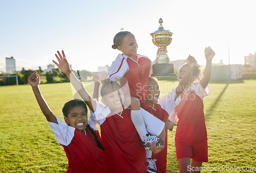
[[113,114],[100,125],[107,172],[146,172],[145,148],[133,125],[131,110]]

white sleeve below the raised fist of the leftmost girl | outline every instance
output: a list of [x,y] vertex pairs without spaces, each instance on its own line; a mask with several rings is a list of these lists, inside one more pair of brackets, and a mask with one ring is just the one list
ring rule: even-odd
[[65,122],[61,121],[58,117],[55,116],[58,124],[54,122],[49,122],[49,125],[54,132],[55,139],[61,145],[68,146],[75,134],[75,128],[67,125]]

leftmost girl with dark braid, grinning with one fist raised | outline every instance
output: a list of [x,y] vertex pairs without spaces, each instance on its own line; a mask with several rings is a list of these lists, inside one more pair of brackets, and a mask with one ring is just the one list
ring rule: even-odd
[[90,119],[88,121],[86,103],[79,99],[68,101],[62,109],[65,123],[53,115],[41,95],[37,72],[29,76],[28,82],[56,140],[66,152],[69,161],[67,172],[106,172],[104,148],[95,124]]

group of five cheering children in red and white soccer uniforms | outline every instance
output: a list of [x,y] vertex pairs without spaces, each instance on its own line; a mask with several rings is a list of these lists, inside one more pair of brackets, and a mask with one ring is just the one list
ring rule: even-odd
[[[83,99],[64,105],[66,123],[52,114],[40,94],[37,72],[29,77],[40,109],[66,152],[67,172],[166,172],[167,129],[172,131],[177,122],[175,146],[180,172],[188,172],[190,159],[194,167],[208,161],[203,98],[209,94],[215,52],[205,48],[204,77],[196,83],[193,81],[198,79],[200,66],[189,55],[179,69],[177,88],[159,99],[157,79],[149,77],[151,60],[137,54],[137,47],[131,32],[116,34],[112,48],[122,54],[108,72],[100,74],[100,79],[94,76],[93,97],[71,71],[65,53],[57,51],[57,62],[53,62]],[[104,105],[98,101],[100,81]],[[100,135],[96,123],[100,125]]]

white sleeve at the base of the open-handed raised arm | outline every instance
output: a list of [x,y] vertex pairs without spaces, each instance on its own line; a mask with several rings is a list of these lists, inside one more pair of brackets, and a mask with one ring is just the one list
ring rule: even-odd
[[106,117],[111,113],[109,106],[104,106],[103,104],[100,104],[96,99],[94,99],[96,102],[96,110],[95,112],[91,112],[91,116],[93,119],[101,125]]

